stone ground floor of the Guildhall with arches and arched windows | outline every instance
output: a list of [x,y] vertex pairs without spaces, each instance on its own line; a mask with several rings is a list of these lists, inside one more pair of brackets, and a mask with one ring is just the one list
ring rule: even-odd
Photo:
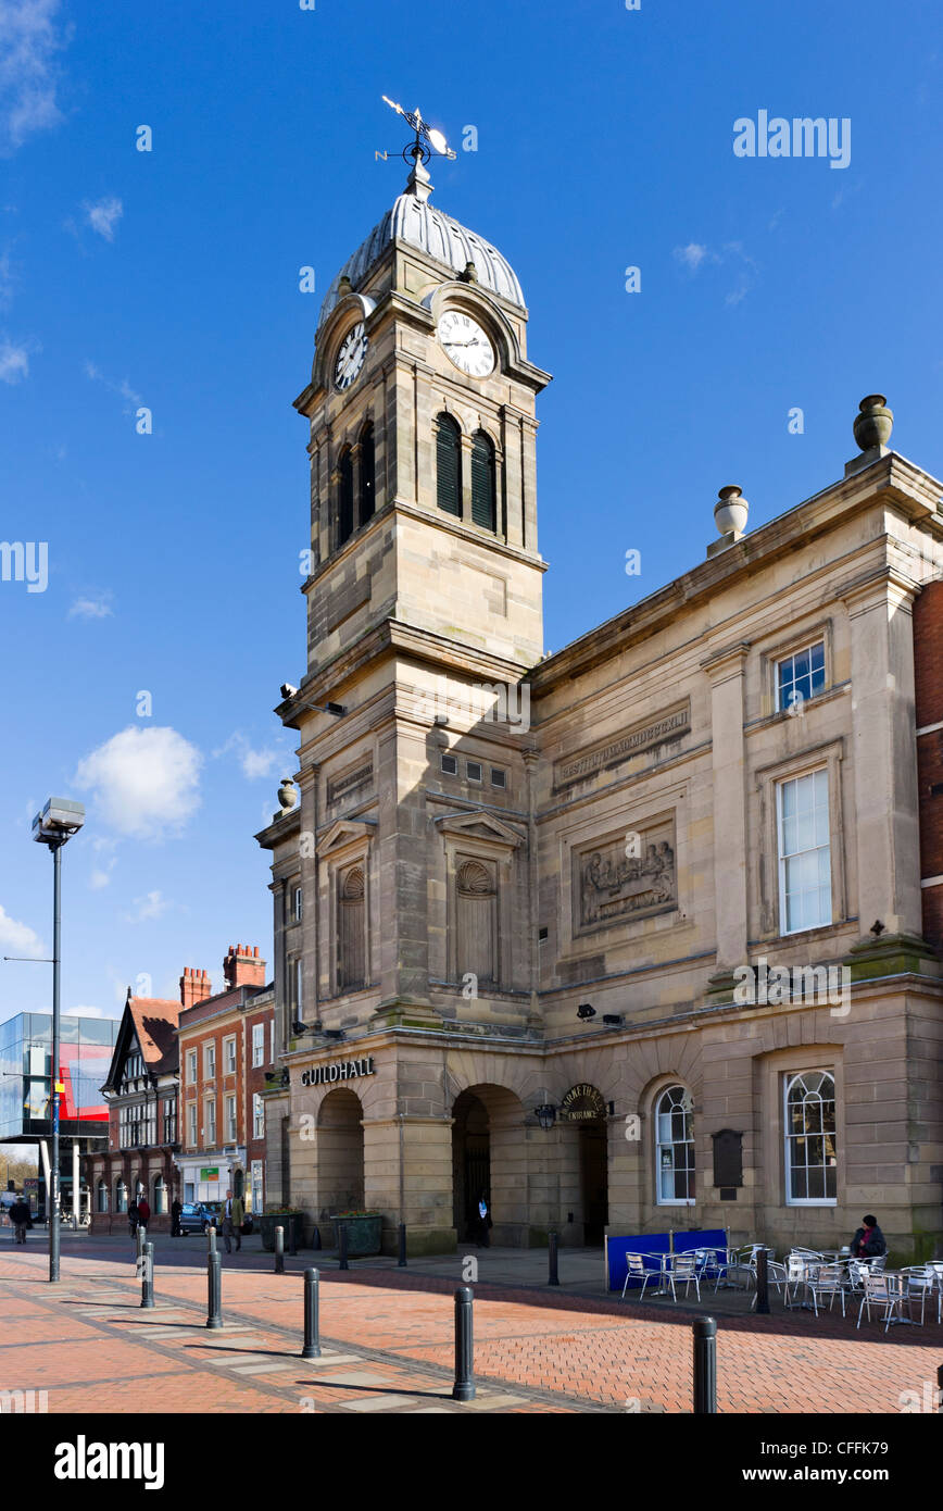
[[901,1262],[943,1253],[943,991],[855,987],[849,1011],[712,1005],[582,1038],[378,1027],[284,1056],[266,1198],[384,1216],[384,1251],[601,1242],[725,1227],[833,1247],[875,1212]]

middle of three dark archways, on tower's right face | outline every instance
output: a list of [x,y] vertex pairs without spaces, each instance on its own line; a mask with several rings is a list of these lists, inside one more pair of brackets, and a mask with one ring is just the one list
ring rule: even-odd
[[452,1204],[459,1244],[479,1239],[478,1201],[491,1212],[491,1244],[526,1245],[524,1109],[505,1086],[462,1091],[452,1108]]

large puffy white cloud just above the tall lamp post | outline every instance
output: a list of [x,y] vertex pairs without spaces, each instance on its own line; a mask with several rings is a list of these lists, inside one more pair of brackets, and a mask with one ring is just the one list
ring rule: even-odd
[[172,728],[136,728],[86,756],[76,784],[92,789],[106,823],[131,839],[180,834],[199,807],[203,756]]

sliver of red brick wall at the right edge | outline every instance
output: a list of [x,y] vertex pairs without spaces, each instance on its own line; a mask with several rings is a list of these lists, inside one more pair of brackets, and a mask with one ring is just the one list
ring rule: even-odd
[[943,947],[943,582],[913,607],[923,938]]

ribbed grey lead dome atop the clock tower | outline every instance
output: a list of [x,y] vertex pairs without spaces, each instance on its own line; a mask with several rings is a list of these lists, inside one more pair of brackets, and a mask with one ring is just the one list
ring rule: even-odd
[[419,174],[416,171],[410,174],[405,193],[399,195],[354,255],[348,257],[328,289],[317,316],[319,328],[339,301],[342,278],[348,278],[351,286],[357,289],[390,242],[405,242],[408,246],[416,246],[452,275],[464,273],[468,263],[473,263],[482,289],[490,289],[491,293],[508,299],[521,310],[526,308],[518,277],[508,258],[476,231],[468,231],[450,215],[431,205],[429,190],[431,184],[423,169],[419,169]]

